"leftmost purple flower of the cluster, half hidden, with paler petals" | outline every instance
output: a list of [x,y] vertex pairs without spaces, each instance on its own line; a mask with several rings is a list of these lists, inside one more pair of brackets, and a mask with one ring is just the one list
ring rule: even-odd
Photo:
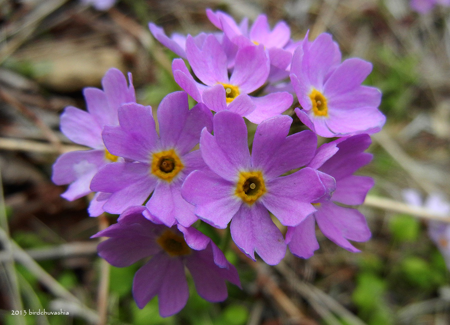
[[[101,131],[106,124],[118,124],[117,109],[121,104],[136,101],[130,73],[128,79],[129,86],[122,72],[109,69],[101,79],[103,90],[84,88],[87,112],[72,106],[64,109],[62,133],[73,142],[92,148],[64,153],[54,163],[51,180],[56,185],[70,184],[61,195],[66,200],[72,201],[90,193],[89,184],[98,169],[117,161],[118,157],[105,149]],[[91,216],[103,212],[95,198],[89,207]]]

